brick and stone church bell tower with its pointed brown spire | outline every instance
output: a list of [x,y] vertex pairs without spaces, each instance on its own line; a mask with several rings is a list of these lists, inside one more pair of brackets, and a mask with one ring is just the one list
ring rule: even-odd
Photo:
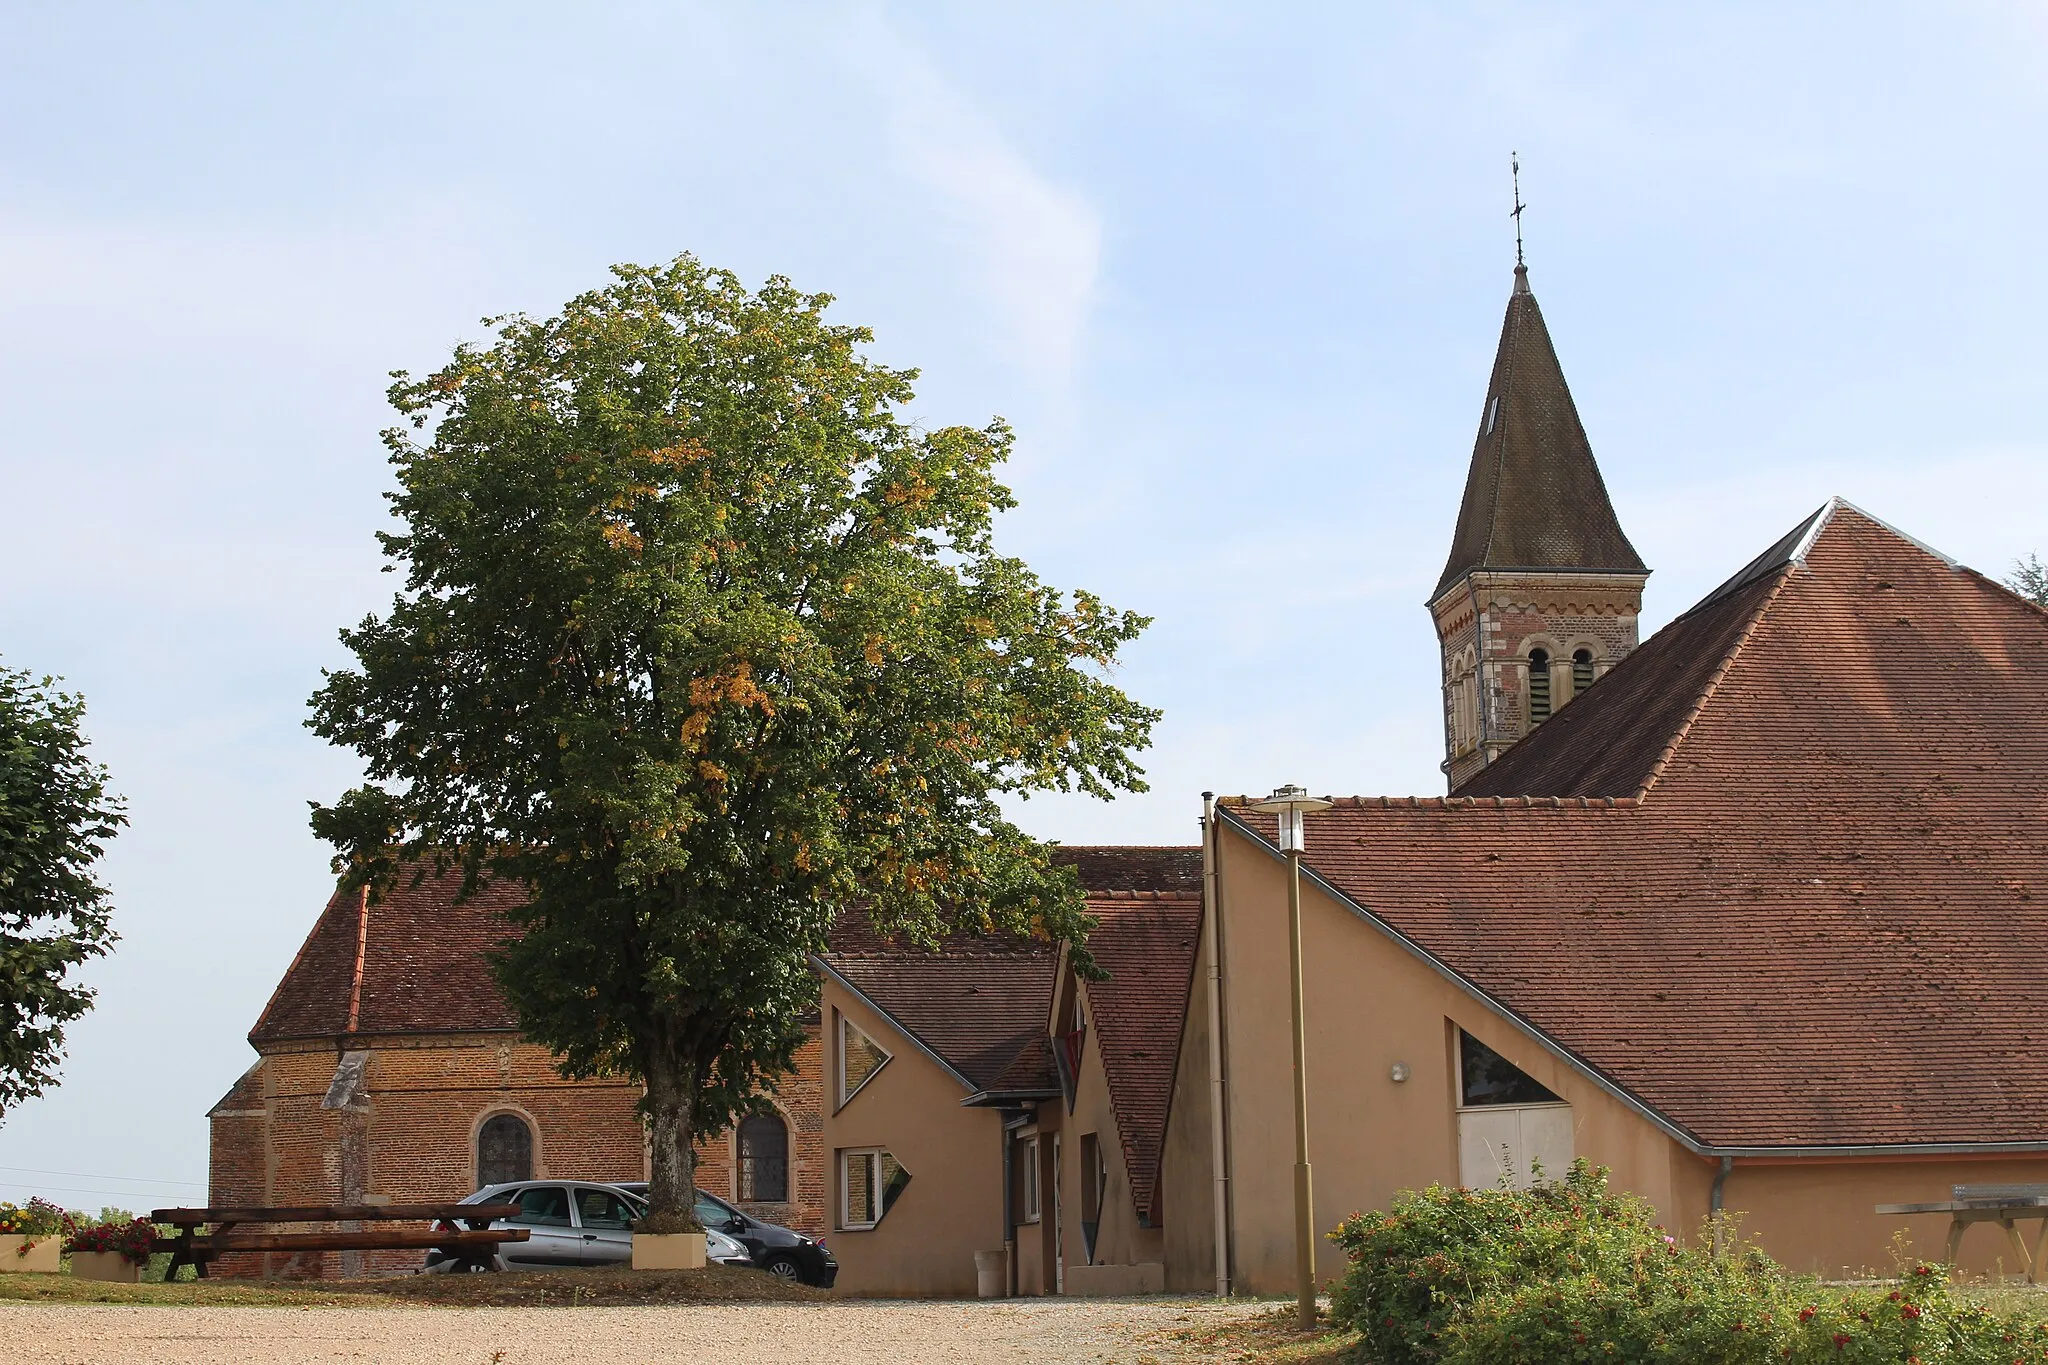
[[1452,792],[1636,647],[1649,575],[1516,264],[1458,530],[1430,596]]

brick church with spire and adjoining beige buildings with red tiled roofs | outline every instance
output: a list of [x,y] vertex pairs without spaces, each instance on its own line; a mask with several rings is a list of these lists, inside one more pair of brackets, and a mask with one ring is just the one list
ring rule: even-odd
[[[1878,1203],[2048,1181],[2048,614],[1845,501],[1792,522],[1642,641],[1649,569],[1516,268],[1427,602],[1448,796],[1307,817],[1319,1230],[1583,1156],[1677,1236],[1741,1214],[1843,1275],[1901,1230],[1939,1254],[1946,1220]],[[1288,1291],[1272,819],[1204,798],[1198,847],[1065,857],[1108,978],[850,927],[799,1074],[700,1183],[827,1236],[850,1293]],[[489,986],[506,894],[328,905],[211,1113],[215,1203],[641,1179],[631,1087],[555,1076]],[[1980,1236],[1966,1265],[2009,1259]]]

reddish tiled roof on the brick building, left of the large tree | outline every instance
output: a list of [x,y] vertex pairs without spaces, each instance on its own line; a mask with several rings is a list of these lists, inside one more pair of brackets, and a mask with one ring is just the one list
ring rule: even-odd
[[518,1027],[485,954],[510,927],[516,886],[457,900],[461,874],[399,884],[365,913],[336,890],[272,993],[252,1044],[346,1033],[469,1033]]

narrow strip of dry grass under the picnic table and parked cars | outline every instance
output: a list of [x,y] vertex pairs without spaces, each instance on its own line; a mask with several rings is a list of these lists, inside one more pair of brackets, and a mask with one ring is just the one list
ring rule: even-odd
[[0,1275],[0,1302],[168,1308],[621,1308],[639,1304],[829,1304],[829,1289],[766,1271],[520,1271],[393,1279],[180,1279],[119,1285],[72,1275]]

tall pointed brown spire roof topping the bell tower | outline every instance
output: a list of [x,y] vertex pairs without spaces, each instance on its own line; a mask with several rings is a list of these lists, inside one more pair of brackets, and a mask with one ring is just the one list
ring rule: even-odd
[[1608,501],[1522,266],[1487,379],[1458,530],[1430,598],[1475,569],[1649,573]]

